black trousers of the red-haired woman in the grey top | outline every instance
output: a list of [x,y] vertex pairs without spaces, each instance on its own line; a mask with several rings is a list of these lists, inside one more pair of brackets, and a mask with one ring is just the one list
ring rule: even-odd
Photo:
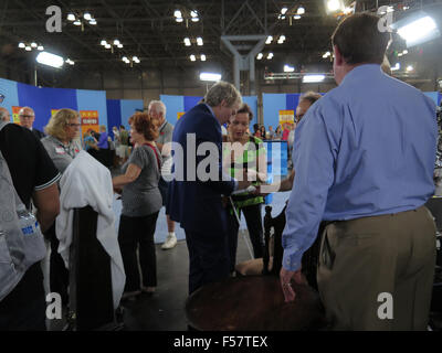
[[137,248],[143,286],[157,286],[157,256],[155,254],[154,234],[158,213],[143,217],[122,215],[119,218],[118,243],[126,272],[125,291],[136,291],[141,288]]

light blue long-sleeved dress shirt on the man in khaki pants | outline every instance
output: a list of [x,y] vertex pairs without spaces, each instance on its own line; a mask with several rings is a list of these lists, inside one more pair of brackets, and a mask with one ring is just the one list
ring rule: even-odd
[[414,210],[434,192],[434,103],[360,65],[296,128],[296,171],[283,232],[283,267],[297,270],[324,221]]

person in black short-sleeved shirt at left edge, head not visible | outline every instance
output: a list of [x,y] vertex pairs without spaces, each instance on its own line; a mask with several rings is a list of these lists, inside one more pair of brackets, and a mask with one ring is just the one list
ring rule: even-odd
[[[17,193],[28,208],[32,200],[44,232],[60,212],[57,169],[35,136],[15,124],[0,131],[0,151]],[[40,263],[35,263],[0,301],[0,331],[46,330],[45,308],[43,274]]]

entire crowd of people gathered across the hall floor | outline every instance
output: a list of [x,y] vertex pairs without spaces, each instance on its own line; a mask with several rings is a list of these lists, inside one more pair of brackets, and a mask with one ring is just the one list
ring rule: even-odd
[[[214,84],[175,127],[166,121],[165,105],[155,100],[147,111],[129,118],[130,133],[124,127],[113,129],[110,142],[122,164],[112,189],[123,204],[118,228],[126,272],[123,300],[156,290],[154,234],[162,206],[168,224],[162,248],[177,244],[175,222],[186,233],[191,295],[232,276],[241,215],[254,257],[263,256],[263,196],[291,190],[280,275],[285,300],[296,300],[293,282],[306,284],[302,259],[316,242],[320,243],[317,287],[332,329],[427,329],[435,227],[423,205],[434,192],[435,106],[418,89],[381,71],[389,33],[379,32],[377,22],[371,14],[354,14],[335,30],[338,87],[324,96],[307,93],[299,98],[293,171],[282,183],[266,183],[263,140],[290,140],[295,126],[273,132],[272,127],[265,131],[255,125],[250,133],[253,114],[229,83]],[[0,116],[8,114],[0,109]],[[9,167],[1,169],[1,176],[13,181],[19,195],[0,206],[17,199],[29,210],[33,204],[51,243],[51,291],[61,293],[65,302],[69,274],[57,252],[54,222],[63,192],[59,181],[83,149],[80,115],[59,110],[44,137],[32,128],[31,108],[22,108],[19,117],[22,127],[0,122],[0,157]],[[105,127],[99,137],[90,130],[83,139],[88,152],[108,150],[108,143]],[[193,153],[180,154],[177,147]],[[202,178],[207,172],[211,176]],[[0,186],[13,195],[10,186]],[[322,222],[325,231],[318,234]],[[29,266],[19,264],[13,275],[2,277],[1,330],[45,329],[41,259],[39,254]],[[378,298],[386,292],[394,299],[394,317],[388,320],[378,315]]]

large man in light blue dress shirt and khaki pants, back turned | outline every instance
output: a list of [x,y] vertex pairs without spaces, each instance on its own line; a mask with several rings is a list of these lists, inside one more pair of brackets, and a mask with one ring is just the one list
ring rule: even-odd
[[301,259],[324,233],[317,280],[335,330],[425,330],[435,226],[423,206],[434,192],[435,105],[381,72],[390,40],[367,13],[332,36],[338,87],[297,129],[294,188],[283,233],[281,284],[303,282]]

